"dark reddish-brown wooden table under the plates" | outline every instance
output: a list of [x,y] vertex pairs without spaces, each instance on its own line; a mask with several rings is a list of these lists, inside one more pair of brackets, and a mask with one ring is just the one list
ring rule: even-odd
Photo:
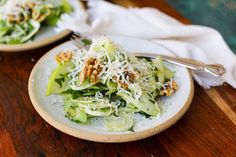
[[[113,2],[124,6],[156,7],[189,23],[162,0]],[[193,102],[183,118],[166,131],[136,142],[89,142],[51,127],[34,110],[27,83],[35,62],[60,42],[21,54],[1,53],[0,157],[236,156],[236,90],[229,85],[204,90],[195,83]]]

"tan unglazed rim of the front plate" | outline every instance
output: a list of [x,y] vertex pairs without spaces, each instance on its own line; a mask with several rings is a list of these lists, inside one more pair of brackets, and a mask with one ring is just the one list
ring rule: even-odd
[[82,131],[82,130],[78,130],[76,128],[71,128],[69,126],[67,126],[66,124],[56,120],[53,118],[53,116],[47,114],[47,112],[40,106],[40,104],[37,102],[35,94],[33,92],[33,76],[35,75],[35,71],[36,68],[38,67],[38,65],[43,62],[44,58],[46,58],[52,51],[54,51],[55,49],[57,49],[58,47],[61,47],[63,44],[69,43],[70,41],[61,43],[60,45],[52,48],[51,50],[49,50],[48,52],[46,52],[38,61],[37,63],[34,65],[31,73],[30,73],[30,77],[28,80],[28,94],[31,100],[31,103],[33,105],[33,107],[35,108],[35,110],[37,111],[37,113],[51,126],[53,126],[54,128],[56,128],[57,130],[62,131],[65,134],[83,139],[83,140],[88,140],[88,141],[94,141],[94,142],[101,142],[101,143],[122,143],[122,142],[131,142],[131,141],[137,141],[140,139],[144,139],[150,136],[153,136],[155,134],[158,134],[164,130],[166,130],[167,128],[169,128],[170,126],[174,125],[184,114],[185,112],[188,110],[192,99],[193,99],[193,95],[194,95],[194,82],[193,79],[191,77],[190,71],[188,69],[188,76],[190,78],[190,93],[188,95],[188,98],[186,100],[186,102],[184,103],[183,107],[180,109],[179,112],[177,112],[174,116],[172,116],[170,119],[168,119],[167,121],[165,121],[164,123],[154,126],[152,128],[143,130],[143,131],[139,131],[139,132],[134,132],[134,133],[130,133],[130,134],[122,134],[122,135],[118,135],[118,134],[114,134],[114,135],[106,135],[106,134],[98,134],[98,133],[94,133],[94,132],[86,132],[86,131]]

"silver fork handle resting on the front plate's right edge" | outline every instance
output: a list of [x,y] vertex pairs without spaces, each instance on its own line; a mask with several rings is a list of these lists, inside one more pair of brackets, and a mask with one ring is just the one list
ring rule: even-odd
[[186,67],[188,69],[196,70],[196,71],[205,71],[214,76],[222,76],[226,72],[225,68],[221,64],[205,64],[203,62],[196,61],[193,59],[188,59],[188,58],[171,57],[171,56],[165,56],[165,55],[157,55],[153,53],[140,53],[140,52],[132,53],[132,55],[147,56],[147,57],[153,57],[153,58],[160,56],[166,62],[180,65],[180,66]]

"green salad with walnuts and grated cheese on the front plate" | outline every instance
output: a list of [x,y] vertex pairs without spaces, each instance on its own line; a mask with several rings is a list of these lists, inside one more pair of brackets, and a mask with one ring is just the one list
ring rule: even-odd
[[161,113],[160,96],[177,90],[160,57],[128,55],[106,37],[83,39],[84,48],[64,50],[55,56],[46,95],[64,98],[65,116],[78,123],[103,117],[108,131],[132,131],[135,114],[146,118]]

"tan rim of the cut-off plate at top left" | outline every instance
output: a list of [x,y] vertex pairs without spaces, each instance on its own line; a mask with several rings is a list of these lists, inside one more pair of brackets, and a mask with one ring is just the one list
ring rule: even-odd
[[37,49],[40,47],[50,45],[54,42],[57,42],[58,40],[63,39],[64,37],[68,36],[71,33],[72,31],[70,30],[64,30],[49,38],[40,39],[40,40],[33,41],[30,43],[23,43],[23,44],[16,44],[16,45],[0,44],[0,51],[13,53],[13,52],[22,52],[22,51]]

